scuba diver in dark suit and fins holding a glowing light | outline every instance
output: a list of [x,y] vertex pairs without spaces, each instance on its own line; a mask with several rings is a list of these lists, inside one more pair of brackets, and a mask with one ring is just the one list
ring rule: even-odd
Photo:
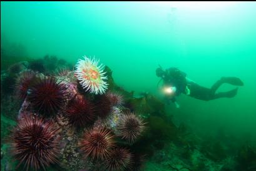
[[232,85],[242,86],[243,82],[237,77],[221,77],[220,80],[215,82],[210,89],[207,87],[202,87],[192,80],[187,78],[185,72],[180,71],[176,67],[170,67],[165,71],[162,67],[156,69],[156,76],[161,77],[161,80],[158,82],[158,85],[163,81],[163,91],[165,92],[165,98],[167,103],[170,104],[170,101],[175,103],[177,108],[180,105],[177,103],[176,98],[180,94],[186,94],[190,97],[200,100],[213,100],[222,97],[232,98],[237,94],[238,88],[229,90],[227,92],[218,92],[216,90],[220,85],[227,83]]

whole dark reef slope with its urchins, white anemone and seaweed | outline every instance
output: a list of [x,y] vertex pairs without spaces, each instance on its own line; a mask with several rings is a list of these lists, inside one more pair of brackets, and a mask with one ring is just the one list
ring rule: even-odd
[[255,146],[198,137],[91,61],[73,70],[44,56],[1,71],[1,170],[256,169]]

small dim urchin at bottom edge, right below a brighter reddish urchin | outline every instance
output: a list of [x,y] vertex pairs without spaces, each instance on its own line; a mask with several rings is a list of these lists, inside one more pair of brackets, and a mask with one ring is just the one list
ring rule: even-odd
[[105,162],[109,171],[121,171],[131,167],[131,153],[123,148],[116,148]]

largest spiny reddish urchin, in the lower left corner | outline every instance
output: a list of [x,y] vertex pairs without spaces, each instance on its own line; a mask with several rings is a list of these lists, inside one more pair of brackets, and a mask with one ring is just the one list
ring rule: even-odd
[[[24,115],[11,135],[14,157],[26,170],[38,170],[58,162],[59,137],[53,122]],[[18,165],[18,167],[19,167]]]

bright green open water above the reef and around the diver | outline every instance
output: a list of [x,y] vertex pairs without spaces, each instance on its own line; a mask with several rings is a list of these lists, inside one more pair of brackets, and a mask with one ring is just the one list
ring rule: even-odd
[[116,84],[160,99],[158,64],[178,67],[205,87],[222,76],[239,77],[244,86],[232,99],[180,95],[180,108],[170,104],[166,111],[202,137],[222,130],[255,140],[255,9],[255,2],[1,2],[1,51],[18,58],[56,55],[72,64],[95,56],[113,71]]

